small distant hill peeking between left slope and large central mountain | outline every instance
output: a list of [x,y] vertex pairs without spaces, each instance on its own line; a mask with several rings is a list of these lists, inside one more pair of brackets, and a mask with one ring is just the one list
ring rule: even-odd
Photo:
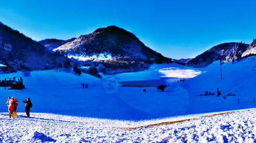
[[38,41],[40,44],[44,45],[45,47],[48,47],[50,50],[56,49],[57,47],[66,44],[67,42],[72,42],[76,38],[71,38],[68,40],[59,40],[59,39],[44,39]]

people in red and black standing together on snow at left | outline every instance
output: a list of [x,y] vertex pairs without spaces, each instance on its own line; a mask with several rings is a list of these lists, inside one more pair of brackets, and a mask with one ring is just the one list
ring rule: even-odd
[[[14,111],[17,110],[17,106],[18,106],[18,100],[14,99],[14,97],[8,97],[8,101],[6,102],[7,106],[8,106],[8,110],[9,110],[9,117],[11,118],[12,114]],[[32,103],[30,101],[30,98],[28,98],[27,100],[23,101],[25,104],[25,111],[27,113],[27,116],[30,116],[30,108],[32,107]]]

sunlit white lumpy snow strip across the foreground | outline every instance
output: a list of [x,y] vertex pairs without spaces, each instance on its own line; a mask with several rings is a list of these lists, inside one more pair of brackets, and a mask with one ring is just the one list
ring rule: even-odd
[[255,116],[256,109],[145,121],[0,113],[0,142],[255,142]]

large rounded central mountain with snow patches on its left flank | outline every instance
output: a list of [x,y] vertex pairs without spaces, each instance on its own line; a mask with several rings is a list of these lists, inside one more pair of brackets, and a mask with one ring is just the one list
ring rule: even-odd
[[[72,42],[63,44],[53,51],[81,59],[100,54],[111,56],[125,64],[144,62],[147,64],[169,62],[169,58],[145,46],[134,34],[116,26],[99,28],[87,35],[81,35]],[[103,60],[98,60],[103,61]],[[115,61],[112,60],[114,64]],[[103,63],[104,64],[104,63]]]

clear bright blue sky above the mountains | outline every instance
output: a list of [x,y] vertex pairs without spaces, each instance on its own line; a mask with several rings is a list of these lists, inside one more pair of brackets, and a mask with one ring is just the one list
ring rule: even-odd
[[0,21],[37,41],[115,25],[162,55],[180,59],[223,42],[249,44],[256,38],[256,0],[0,2]]

